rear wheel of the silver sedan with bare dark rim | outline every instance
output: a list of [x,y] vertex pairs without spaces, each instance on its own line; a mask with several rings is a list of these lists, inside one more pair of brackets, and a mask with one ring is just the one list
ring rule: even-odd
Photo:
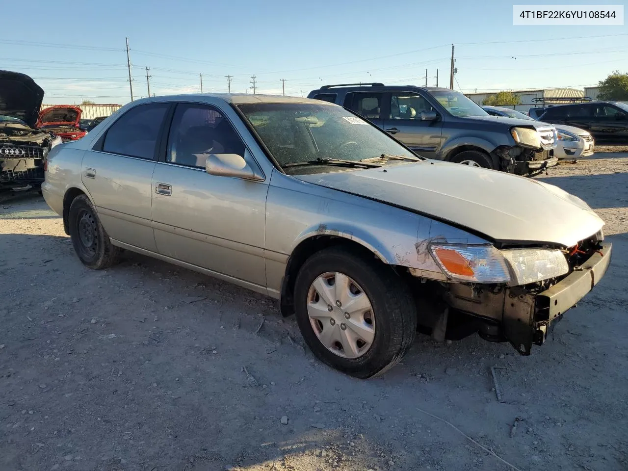
[[109,241],[87,196],[79,195],[72,201],[68,227],[74,251],[85,266],[99,270],[119,262],[122,250]]

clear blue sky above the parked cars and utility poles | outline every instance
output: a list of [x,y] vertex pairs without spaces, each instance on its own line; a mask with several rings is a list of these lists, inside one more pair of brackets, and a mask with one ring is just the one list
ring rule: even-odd
[[200,73],[205,92],[226,92],[225,75],[234,77],[233,92],[245,92],[256,75],[258,93],[281,94],[284,78],[292,95],[330,83],[425,84],[426,68],[429,85],[438,68],[447,87],[452,43],[455,88],[464,92],[582,88],[613,70],[628,72],[627,26],[512,26],[512,4],[10,2],[3,4],[12,26],[0,35],[0,68],[36,78],[52,104],[127,102],[125,36],[135,97],[147,94],[146,66],[151,94],[198,92]]

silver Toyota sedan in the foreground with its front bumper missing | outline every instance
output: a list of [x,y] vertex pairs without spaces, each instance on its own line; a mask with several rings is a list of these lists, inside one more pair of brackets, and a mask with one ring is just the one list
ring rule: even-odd
[[577,197],[425,160],[319,100],[137,100],[55,147],[42,190],[85,266],[127,249],[278,298],[319,359],[362,378],[418,328],[528,355],[610,262]]

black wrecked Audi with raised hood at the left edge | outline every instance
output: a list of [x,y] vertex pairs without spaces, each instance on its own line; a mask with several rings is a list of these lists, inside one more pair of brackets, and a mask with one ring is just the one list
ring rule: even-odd
[[48,151],[61,139],[36,129],[43,90],[23,73],[0,70],[0,189],[39,187]]

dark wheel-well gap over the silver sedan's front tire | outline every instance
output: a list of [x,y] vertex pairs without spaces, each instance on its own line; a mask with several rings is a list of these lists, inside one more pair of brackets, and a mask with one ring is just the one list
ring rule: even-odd
[[330,247],[341,247],[351,252],[352,254],[364,257],[367,259],[375,258],[382,264],[387,264],[381,256],[371,251],[368,247],[360,244],[359,242],[352,241],[345,237],[339,236],[312,236],[303,240],[295,247],[288,258],[286,264],[286,271],[283,279],[281,280],[281,298],[279,305],[281,308],[281,315],[288,317],[295,313],[295,300],[294,290],[296,276],[299,273],[300,268],[305,261],[313,254],[320,252]]

